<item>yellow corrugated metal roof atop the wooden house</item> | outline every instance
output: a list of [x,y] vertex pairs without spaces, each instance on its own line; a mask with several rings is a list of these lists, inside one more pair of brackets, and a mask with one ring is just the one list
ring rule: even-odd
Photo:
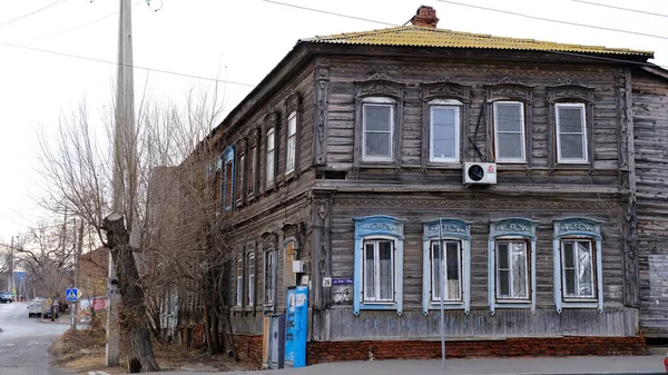
[[559,51],[572,53],[638,55],[647,58],[654,57],[654,52],[651,51],[638,51],[626,48],[606,48],[601,46],[566,45],[533,39],[503,38],[490,34],[459,32],[415,26],[315,37],[302,39],[302,41],[342,45],[481,48]]

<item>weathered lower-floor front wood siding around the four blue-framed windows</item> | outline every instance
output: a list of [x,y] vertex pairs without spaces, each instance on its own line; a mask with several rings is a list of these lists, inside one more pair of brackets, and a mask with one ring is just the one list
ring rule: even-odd
[[[622,305],[621,238],[618,203],[597,195],[499,197],[484,193],[468,195],[337,194],[332,209],[332,276],[354,277],[353,217],[390,215],[406,219],[404,225],[403,314],[363,310],[352,314],[352,299],[334,303],[331,310],[315,317],[316,339],[365,339],[369,337],[436,337],[438,310],[422,315],[422,223],[440,217],[471,224],[471,314],[448,312],[449,337],[637,334],[637,310]],[[596,309],[554,307],[552,224],[563,217],[588,217],[602,221],[603,314]],[[488,238],[490,221],[522,217],[537,226],[537,312],[498,309],[492,316],[488,304]],[[351,286],[352,289],[352,286]],[[352,290],[351,290],[352,292]],[[346,308],[347,307],[347,308]],[[497,315],[498,314],[498,315]],[[587,324],[583,324],[587,322]]]

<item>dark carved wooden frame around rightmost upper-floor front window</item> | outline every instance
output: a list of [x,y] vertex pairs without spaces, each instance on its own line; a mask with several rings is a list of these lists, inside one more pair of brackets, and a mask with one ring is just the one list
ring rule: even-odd
[[[589,169],[593,170],[595,162],[595,140],[593,140],[593,88],[578,83],[567,83],[559,86],[548,86],[549,108],[549,165],[550,170],[556,169]],[[559,162],[557,150],[557,107],[559,103],[580,103],[584,107],[584,134],[587,137],[586,151],[587,160],[578,162]]]

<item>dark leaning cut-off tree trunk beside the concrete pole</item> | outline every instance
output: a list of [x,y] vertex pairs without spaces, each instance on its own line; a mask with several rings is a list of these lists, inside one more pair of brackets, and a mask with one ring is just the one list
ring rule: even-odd
[[135,261],[135,249],[129,244],[130,238],[122,215],[112,214],[106,217],[102,229],[107,233],[107,245],[116,268],[122,305],[120,325],[128,333],[130,344],[128,369],[130,373],[159,371],[147,328],[146,300]]

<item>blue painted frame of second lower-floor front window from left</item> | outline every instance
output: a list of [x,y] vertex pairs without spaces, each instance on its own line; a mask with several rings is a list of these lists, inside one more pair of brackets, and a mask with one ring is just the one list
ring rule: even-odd
[[[439,229],[439,226],[441,228]],[[443,309],[471,309],[471,225],[460,219],[441,218],[422,224],[422,314],[430,309],[440,309],[441,303],[431,298],[431,243],[433,240],[459,240],[461,243],[462,300],[444,300]],[[441,248],[443,246],[441,245]]]

